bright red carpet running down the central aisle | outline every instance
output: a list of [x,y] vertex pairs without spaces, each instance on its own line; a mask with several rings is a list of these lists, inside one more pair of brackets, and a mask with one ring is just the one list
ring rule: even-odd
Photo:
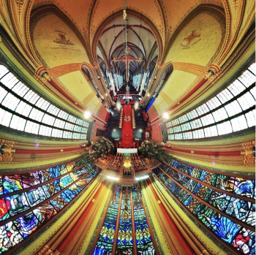
[[[126,115],[130,116],[130,121],[124,121]],[[121,148],[133,148],[131,104],[124,104],[123,124],[121,129]]]

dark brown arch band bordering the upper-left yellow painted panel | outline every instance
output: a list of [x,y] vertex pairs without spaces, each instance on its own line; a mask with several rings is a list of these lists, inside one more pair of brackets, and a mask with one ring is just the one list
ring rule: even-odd
[[42,58],[39,51],[37,50],[37,47],[34,44],[34,35],[33,35],[34,28],[37,25],[37,23],[39,22],[39,20],[41,20],[42,18],[44,18],[47,15],[56,15],[72,30],[72,32],[75,34],[75,36],[80,41],[81,45],[83,45],[83,48],[86,51],[86,54],[87,54],[89,60],[91,61],[91,53],[90,53],[89,48],[86,45],[83,35],[80,33],[80,31],[75,26],[75,24],[72,23],[72,20],[70,20],[67,17],[67,15],[64,14],[64,12],[62,12],[61,9],[59,9],[59,7],[57,7],[54,4],[48,4],[48,5],[44,5],[41,7],[37,7],[36,9],[33,9],[31,12],[31,18],[29,20],[30,26],[29,26],[28,40],[31,42],[31,43],[29,43],[29,45],[31,45],[31,47],[32,47],[31,51],[35,54],[34,57],[39,58],[39,61],[41,61],[42,65],[48,67],[47,63],[45,63],[44,59]]

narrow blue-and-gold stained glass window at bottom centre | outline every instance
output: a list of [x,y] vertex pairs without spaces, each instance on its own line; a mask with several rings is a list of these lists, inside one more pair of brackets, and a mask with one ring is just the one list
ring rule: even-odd
[[[117,222],[118,210],[120,219]],[[132,228],[132,221],[134,221],[135,229]],[[116,232],[118,236],[114,244]],[[132,237],[133,232],[135,232],[135,240]],[[134,254],[133,242],[136,243],[137,254],[155,254],[139,184],[122,188],[116,184],[93,254],[111,254],[113,245],[116,245],[116,254]]]

